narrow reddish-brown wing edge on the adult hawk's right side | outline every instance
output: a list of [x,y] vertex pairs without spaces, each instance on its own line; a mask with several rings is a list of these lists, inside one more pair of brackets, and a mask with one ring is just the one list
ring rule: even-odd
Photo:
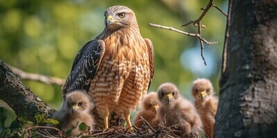
[[150,64],[150,81],[148,85],[148,90],[150,88],[150,84],[154,77],[154,70],[155,70],[155,61],[154,61],[154,48],[152,41],[150,39],[144,39],[146,45],[148,46],[148,57],[149,57],[149,64]]

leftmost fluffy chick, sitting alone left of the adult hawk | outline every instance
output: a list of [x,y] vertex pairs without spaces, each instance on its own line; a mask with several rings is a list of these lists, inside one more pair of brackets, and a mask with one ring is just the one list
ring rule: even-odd
[[56,127],[62,132],[75,127],[71,131],[71,136],[74,137],[80,133],[79,125],[82,122],[93,130],[94,121],[90,114],[92,107],[93,103],[87,93],[76,90],[66,95],[62,110],[55,112],[52,118],[60,122]]

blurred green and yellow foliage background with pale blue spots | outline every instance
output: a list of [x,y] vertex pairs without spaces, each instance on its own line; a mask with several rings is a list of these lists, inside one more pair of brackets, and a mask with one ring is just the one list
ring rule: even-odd
[[[208,0],[0,0],[0,59],[26,72],[66,79],[78,50],[96,37],[105,27],[104,12],[109,6],[124,5],[136,13],[141,34],[152,40],[155,54],[155,74],[150,91],[163,82],[177,84],[188,99],[194,79],[211,79],[218,92],[226,17],[211,8],[202,23],[203,37],[219,41],[204,46],[208,66],[200,56],[195,37],[148,26],[159,23],[187,32],[197,28],[181,25],[197,19]],[[215,5],[226,12],[228,1]],[[55,109],[62,105],[61,86],[36,81],[23,81],[36,95]],[[0,101],[0,106],[5,106]],[[1,114],[1,112],[0,112]]]

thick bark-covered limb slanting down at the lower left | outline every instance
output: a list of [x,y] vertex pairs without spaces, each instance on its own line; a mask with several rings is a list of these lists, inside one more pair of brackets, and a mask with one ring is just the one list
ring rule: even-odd
[[12,73],[0,60],[0,99],[8,103],[17,115],[24,115],[28,121],[35,122],[35,115],[45,114],[50,117],[54,109],[47,106],[29,88]]

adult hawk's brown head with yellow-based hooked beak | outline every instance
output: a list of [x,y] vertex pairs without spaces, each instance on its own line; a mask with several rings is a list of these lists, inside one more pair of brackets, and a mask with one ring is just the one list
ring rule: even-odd
[[118,30],[125,26],[138,26],[134,12],[126,6],[111,6],[105,12],[106,28]]

